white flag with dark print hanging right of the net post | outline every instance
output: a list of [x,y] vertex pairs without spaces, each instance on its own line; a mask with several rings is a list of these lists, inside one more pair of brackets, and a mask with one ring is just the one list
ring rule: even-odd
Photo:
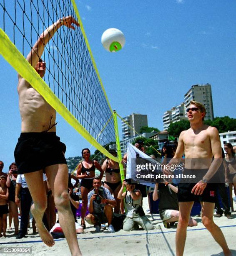
[[[135,146],[133,146],[131,143],[127,144],[127,166],[126,166],[126,179],[133,179],[135,181],[140,181],[139,179],[136,178],[134,174],[137,173],[136,171],[136,163],[134,159],[136,159],[136,156],[143,158],[143,159],[150,159],[152,163],[159,164],[158,161],[155,159],[152,159],[150,156],[147,154],[143,153],[143,151],[139,150]],[[132,160],[133,159],[133,160]],[[132,175],[133,174],[133,175]],[[152,184],[151,182],[139,182],[140,184],[150,186],[150,187],[155,187],[155,184]]]

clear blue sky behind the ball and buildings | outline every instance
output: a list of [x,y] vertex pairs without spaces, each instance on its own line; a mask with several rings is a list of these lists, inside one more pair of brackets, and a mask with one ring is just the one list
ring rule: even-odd
[[[191,85],[210,83],[215,116],[236,118],[235,1],[76,3],[110,105],[121,116],[147,114],[148,125],[162,129],[163,113],[183,102]],[[125,34],[126,45],[118,53],[109,53],[101,45],[107,28]],[[2,56],[0,67],[0,160],[7,172],[20,135],[20,114],[17,74]],[[63,118],[58,116],[58,121],[66,157],[90,147]]]

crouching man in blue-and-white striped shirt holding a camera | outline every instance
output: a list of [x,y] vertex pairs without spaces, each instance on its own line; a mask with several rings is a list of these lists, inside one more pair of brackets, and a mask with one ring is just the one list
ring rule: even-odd
[[113,219],[113,207],[116,206],[114,197],[107,188],[101,187],[99,177],[93,178],[94,189],[88,193],[88,211],[86,221],[95,225],[95,231],[100,231],[101,224],[108,222],[108,230],[115,232],[111,221]]

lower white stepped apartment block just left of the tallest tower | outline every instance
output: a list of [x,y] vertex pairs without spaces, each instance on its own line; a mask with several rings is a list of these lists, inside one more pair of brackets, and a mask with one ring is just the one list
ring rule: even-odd
[[162,117],[164,130],[167,130],[171,123],[186,119],[184,112],[184,103],[167,110]]

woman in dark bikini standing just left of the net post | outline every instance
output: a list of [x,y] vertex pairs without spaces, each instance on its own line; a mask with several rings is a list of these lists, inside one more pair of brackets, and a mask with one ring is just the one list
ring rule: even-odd
[[[110,150],[110,154],[117,156],[115,150]],[[120,213],[121,200],[117,198],[118,192],[121,189],[121,174],[119,164],[112,159],[105,159],[102,165],[102,169],[105,172],[104,187],[109,189],[110,193],[113,194],[117,205],[114,208],[115,213]]]

